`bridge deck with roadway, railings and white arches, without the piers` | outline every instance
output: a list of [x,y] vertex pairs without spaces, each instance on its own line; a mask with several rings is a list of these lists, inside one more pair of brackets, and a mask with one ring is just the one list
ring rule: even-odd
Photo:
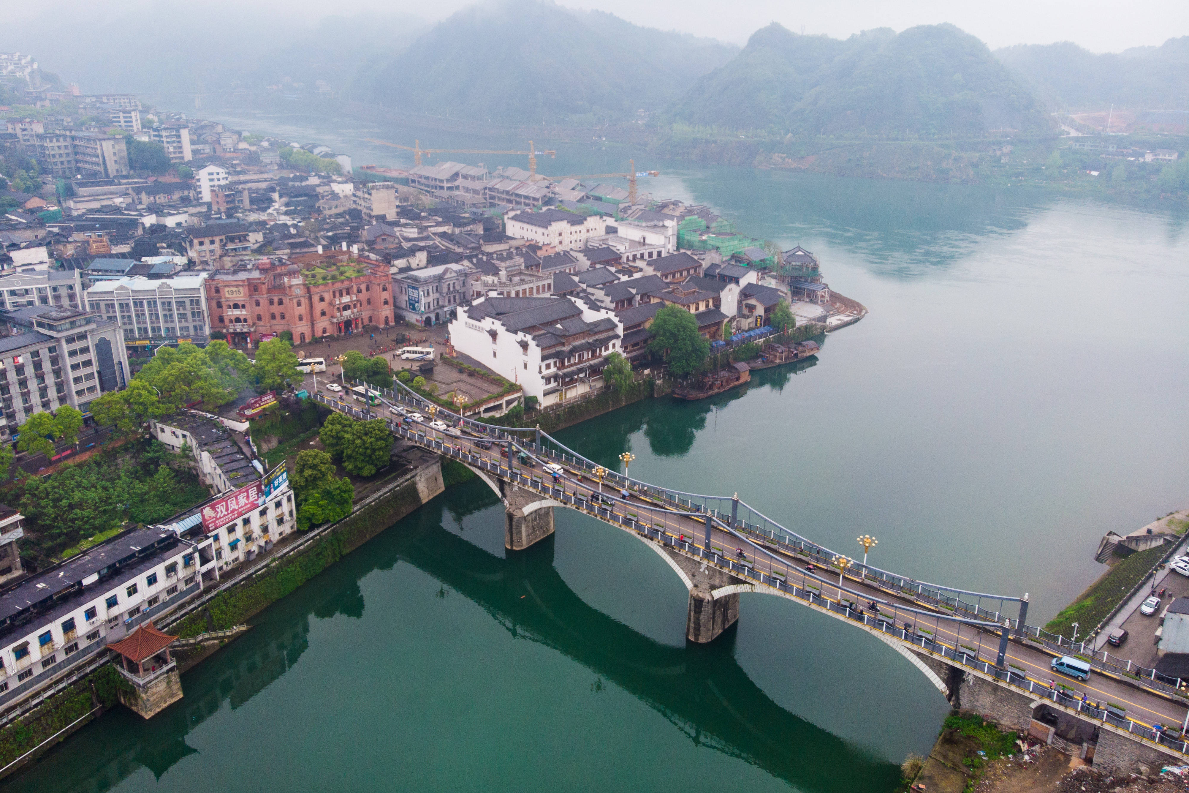
[[[687,587],[691,586],[690,575],[673,561],[675,555],[700,564],[704,573],[717,571],[735,581],[718,586],[712,593],[716,599],[737,597],[744,591],[779,594],[861,625],[913,661],[948,697],[951,692],[946,682],[914,660],[913,654],[943,660],[950,667],[981,672],[999,685],[1026,692],[1037,701],[1051,700],[1055,710],[1102,722],[1145,742],[1153,737],[1153,724],[1179,728],[1189,720],[1189,710],[1183,704],[1099,671],[1086,682],[1052,672],[1049,663],[1053,654],[1018,638],[1004,641],[1005,627],[998,621],[956,617],[952,610],[906,594],[904,587],[892,589],[867,574],[855,574],[854,568],[847,568],[839,578],[838,567],[814,564],[813,556],[780,539],[732,529],[712,515],[680,509],[669,499],[658,499],[654,492],[643,489],[616,491],[604,480],[596,479],[590,470],[566,464],[564,455],[546,449],[543,445],[512,439],[508,434],[509,428],[470,420],[459,422],[457,415],[438,408],[439,416],[455,424],[463,423],[468,432],[454,436],[434,430],[424,422],[394,415],[398,409],[408,413],[427,410],[429,403],[401,391],[392,394],[398,397],[395,402],[382,397],[384,405],[390,408],[388,415],[363,408],[333,392],[314,397],[354,418],[383,418],[394,435],[461,461],[479,473],[505,504],[510,497],[508,489],[520,489],[530,493],[529,499],[541,506],[567,506],[652,541],[647,545],[668,561]],[[410,408],[394,407],[400,403]],[[487,429],[483,434],[474,432],[479,427]],[[491,446],[485,449],[478,445],[480,442]],[[514,455],[511,449],[535,458],[533,466],[512,459],[518,454]],[[556,477],[543,473],[546,464],[560,464],[562,471]],[[1011,628],[1012,621],[1005,622]],[[999,657],[1001,650],[1002,659]],[[1051,681],[1057,685],[1057,691],[1050,686]],[[1086,705],[1081,701],[1083,696],[1088,700]],[[1126,709],[1127,718],[1116,718],[1102,707],[1094,707],[1095,704],[1105,706],[1107,703]],[[1172,742],[1168,737],[1158,742],[1163,744],[1163,750],[1189,761],[1189,744]]]

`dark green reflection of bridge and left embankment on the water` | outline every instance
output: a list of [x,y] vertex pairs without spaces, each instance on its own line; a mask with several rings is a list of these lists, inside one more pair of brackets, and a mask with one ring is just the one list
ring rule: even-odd
[[[551,647],[647,703],[699,747],[751,763],[799,789],[891,789],[897,769],[793,716],[734,657],[734,631],[711,646],[658,643],[584,603],[553,565],[553,539],[503,558],[442,528],[496,504],[478,482],[453,489],[260,616],[252,631],[183,678],[185,698],[144,722],[117,709],[4,789],[107,791],[140,768],[158,779],[195,754],[185,736],[285,674],[308,647],[310,617],[363,613],[360,580],[408,562],[482,606],[505,630]],[[498,509],[498,508],[497,508]]]

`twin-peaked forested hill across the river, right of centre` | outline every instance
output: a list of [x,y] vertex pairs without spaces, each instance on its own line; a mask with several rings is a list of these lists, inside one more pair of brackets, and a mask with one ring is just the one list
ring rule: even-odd
[[1048,115],[977,38],[952,25],[845,40],[773,23],[671,105],[674,121],[794,136],[1043,132]]

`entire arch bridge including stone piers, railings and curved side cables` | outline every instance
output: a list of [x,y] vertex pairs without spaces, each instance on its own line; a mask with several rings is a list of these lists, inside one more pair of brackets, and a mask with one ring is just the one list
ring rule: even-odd
[[[1119,767],[1151,764],[1150,756],[1132,756],[1140,747],[1162,762],[1189,762],[1189,743],[1179,736],[1189,720],[1187,700],[1160,690],[1156,680],[1137,682],[1095,671],[1080,682],[1053,673],[1052,657],[1078,648],[1046,646],[1039,629],[1025,622],[1026,594],[979,593],[851,562],[785,529],[737,496],[685,493],[630,479],[539,429],[477,422],[433,405],[400,383],[396,390],[380,390],[383,404],[371,408],[345,395],[313,398],[354,418],[380,418],[397,438],[478,473],[505,503],[505,545],[511,549],[551,534],[554,506],[584,512],[643,540],[691,591],[691,641],[711,641],[730,627],[741,592],[775,594],[872,634],[955,705],[960,698],[983,703],[983,710],[995,711],[984,715],[998,716],[1001,724],[1027,729],[1043,705],[1065,718],[1094,722],[1099,755],[1106,760],[1105,744],[1111,744],[1111,756],[1120,756]],[[414,411],[426,420],[409,420],[405,414]],[[442,420],[457,434],[430,428],[430,418]],[[546,512],[547,527],[541,520]],[[526,528],[514,531],[516,521]],[[1008,609],[1015,613],[1005,613]]]

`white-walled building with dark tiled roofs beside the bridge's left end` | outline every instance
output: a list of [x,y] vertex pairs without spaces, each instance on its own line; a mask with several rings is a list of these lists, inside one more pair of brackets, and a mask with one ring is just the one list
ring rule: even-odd
[[549,405],[602,386],[623,325],[610,309],[567,297],[487,297],[459,311],[449,336],[457,351]]

